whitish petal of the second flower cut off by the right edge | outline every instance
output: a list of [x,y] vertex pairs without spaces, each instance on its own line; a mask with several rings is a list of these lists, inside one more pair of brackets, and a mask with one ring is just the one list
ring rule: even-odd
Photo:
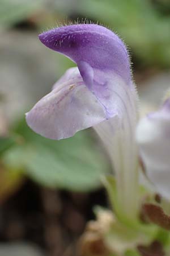
[[170,198],[170,99],[162,108],[141,119],[137,128],[146,174],[156,189]]

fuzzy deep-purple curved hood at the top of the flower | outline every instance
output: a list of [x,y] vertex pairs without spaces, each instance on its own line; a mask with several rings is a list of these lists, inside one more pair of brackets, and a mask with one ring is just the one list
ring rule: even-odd
[[45,46],[84,61],[92,68],[111,69],[130,79],[128,54],[122,41],[111,30],[96,24],[58,27],[39,36]]

